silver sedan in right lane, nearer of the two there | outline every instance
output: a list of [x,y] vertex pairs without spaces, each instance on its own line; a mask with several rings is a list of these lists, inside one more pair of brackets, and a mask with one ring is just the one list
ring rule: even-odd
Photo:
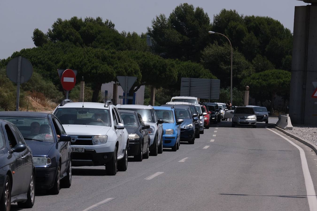
[[235,126],[252,126],[256,127],[256,114],[253,108],[237,107],[235,111],[230,112],[232,115],[232,125]]

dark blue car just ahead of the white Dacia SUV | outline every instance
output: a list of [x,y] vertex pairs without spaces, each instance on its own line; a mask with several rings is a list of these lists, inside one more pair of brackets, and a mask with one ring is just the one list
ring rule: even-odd
[[32,150],[36,188],[58,194],[72,182],[71,137],[55,115],[40,112],[3,111],[0,119],[16,125]]

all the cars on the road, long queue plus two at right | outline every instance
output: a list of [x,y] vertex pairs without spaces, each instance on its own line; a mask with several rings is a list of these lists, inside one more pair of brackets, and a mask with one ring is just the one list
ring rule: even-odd
[[[232,127],[268,121],[264,107],[237,107]],[[128,156],[142,161],[194,144],[211,123],[225,119],[223,103],[173,97],[161,106],[113,105],[64,100],[53,114],[0,112],[0,210],[12,202],[31,208],[35,189],[58,194],[72,183],[72,166],[105,166],[107,175],[126,171]]]

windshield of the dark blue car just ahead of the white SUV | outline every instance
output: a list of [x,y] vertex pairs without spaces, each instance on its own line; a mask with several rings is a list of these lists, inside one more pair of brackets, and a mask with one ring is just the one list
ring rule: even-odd
[[54,142],[52,128],[46,118],[1,116],[1,119],[13,123],[26,140]]

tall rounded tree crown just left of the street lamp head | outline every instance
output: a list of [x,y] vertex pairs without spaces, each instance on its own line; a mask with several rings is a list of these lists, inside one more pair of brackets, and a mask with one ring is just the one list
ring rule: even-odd
[[153,51],[165,58],[199,62],[200,52],[209,42],[210,18],[200,7],[178,5],[168,18],[164,14],[152,20],[148,34]]

